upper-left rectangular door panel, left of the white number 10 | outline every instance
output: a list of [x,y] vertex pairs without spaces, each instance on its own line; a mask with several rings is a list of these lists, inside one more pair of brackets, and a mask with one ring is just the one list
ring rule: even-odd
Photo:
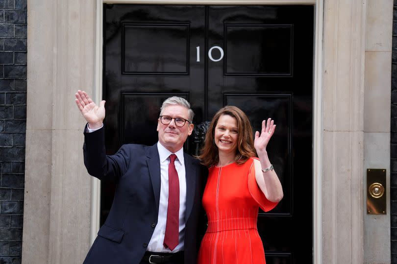
[[189,74],[189,24],[124,23],[122,37],[123,74]]

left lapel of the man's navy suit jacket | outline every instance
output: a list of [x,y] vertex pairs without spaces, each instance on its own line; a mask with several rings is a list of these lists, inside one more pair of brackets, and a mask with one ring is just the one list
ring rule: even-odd
[[150,180],[151,180],[151,185],[153,187],[154,200],[156,203],[156,210],[158,214],[158,208],[160,204],[161,179],[160,179],[160,157],[158,155],[157,144],[154,144],[151,147],[149,147],[149,152],[147,155],[146,162],[149,168]]

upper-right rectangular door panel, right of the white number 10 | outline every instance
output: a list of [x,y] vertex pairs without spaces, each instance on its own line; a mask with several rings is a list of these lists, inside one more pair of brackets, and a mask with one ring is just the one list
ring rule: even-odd
[[292,76],[293,32],[292,24],[224,24],[224,75]]

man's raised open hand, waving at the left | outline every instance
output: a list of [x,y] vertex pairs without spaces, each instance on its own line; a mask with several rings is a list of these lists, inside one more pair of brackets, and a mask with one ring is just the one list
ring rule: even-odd
[[100,101],[98,106],[86,92],[80,90],[77,91],[75,96],[76,105],[84,119],[88,122],[89,127],[91,129],[101,127],[105,118],[105,101]]

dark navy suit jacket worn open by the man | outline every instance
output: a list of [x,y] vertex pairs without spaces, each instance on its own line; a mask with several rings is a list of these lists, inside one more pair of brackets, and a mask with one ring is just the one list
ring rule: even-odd
[[[105,154],[104,129],[84,133],[88,173],[117,183],[113,204],[84,264],[139,264],[157,224],[160,200],[160,158],[157,145],[125,144]],[[201,195],[206,169],[184,153],[186,170],[185,264],[195,264],[203,221]],[[199,223],[200,222],[200,223]]]

